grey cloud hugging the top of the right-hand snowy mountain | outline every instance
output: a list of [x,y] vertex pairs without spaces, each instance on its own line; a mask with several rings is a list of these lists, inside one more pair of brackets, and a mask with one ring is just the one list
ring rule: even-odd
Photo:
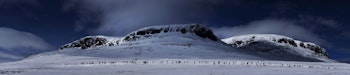
[[243,34],[279,34],[303,41],[328,45],[326,40],[320,38],[312,30],[286,20],[264,19],[250,22],[247,25],[212,28],[214,33],[221,38]]

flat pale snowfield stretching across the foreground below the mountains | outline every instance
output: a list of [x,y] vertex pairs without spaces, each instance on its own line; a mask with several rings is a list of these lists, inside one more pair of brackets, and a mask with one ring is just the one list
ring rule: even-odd
[[[349,75],[345,63],[66,56],[0,64],[6,75]],[[38,62],[41,61],[41,62]]]

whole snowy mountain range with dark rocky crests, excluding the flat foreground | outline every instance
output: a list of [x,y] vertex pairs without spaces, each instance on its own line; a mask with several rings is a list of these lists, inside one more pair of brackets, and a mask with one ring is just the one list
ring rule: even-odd
[[314,43],[272,34],[241,35],[221,41],[209,28],[198,24],[146,27],[121,38],[87,36],[62,46],[58,52],[94,57],[334,62],[323,48]]

